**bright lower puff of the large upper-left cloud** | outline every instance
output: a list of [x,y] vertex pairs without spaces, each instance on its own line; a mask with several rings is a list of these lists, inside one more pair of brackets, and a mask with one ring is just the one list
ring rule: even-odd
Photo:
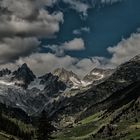
[[4,15],[1,16],[0,37],[16,35],[50,37],[59,31],[59,23],[63,21],[63,14],[61,12],[50,15],[44,9],[39,10],[38,15],[31,21],[14,14],[5,15],[6,17]]

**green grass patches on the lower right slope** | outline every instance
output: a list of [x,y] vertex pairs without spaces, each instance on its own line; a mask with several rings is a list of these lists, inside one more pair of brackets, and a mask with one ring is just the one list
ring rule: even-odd
[[[108,115],[108,117],[105,118],[101,118],[101,113],[91,115],[90,117],[80,121],[73,128],[67,128],[62,132],[54,135],[55,140],[107,140],[109,137],[93,138],[92,135],[96,134],[103,126],[110,124],[112,118],[114,116],[117,116],[116,114],[119,114],[122,110],[126,109],[129,106],[130,103],[124,105],[123,107],[116,110],[111,115]],[[121,119],[119,122],[115,122],[113,126],[115,127],[113,133],[114,135],[118,135],[118,137],[116,138],[118,140],[140,139],[140,120],[138,120],[138,122],[135,122],[135,117],[132,117],[128,120]]]

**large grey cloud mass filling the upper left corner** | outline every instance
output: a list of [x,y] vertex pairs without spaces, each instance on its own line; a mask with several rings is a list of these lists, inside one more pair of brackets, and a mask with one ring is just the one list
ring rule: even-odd
[[44,9],[44,6],[53,2],[53,0],[1,0],[0,37],[52,36],[59,31],[59,24],[63,22],[62,12],[50,14]]

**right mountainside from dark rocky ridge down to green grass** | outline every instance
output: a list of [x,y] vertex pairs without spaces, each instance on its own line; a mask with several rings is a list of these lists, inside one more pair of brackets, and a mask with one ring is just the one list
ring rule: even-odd
[[[90,98],[87,99],[89,95],[93,102]],[[140,56],[120,65],[107,80],[84,92],[83,98],[79,95],[76,100],[72,101],[74,104],[69,103],[71,107],[65,106],[57,112],[57,114],[66,113],[71,118],[73,110],[76,113],[80,112],[75,117],[77,119],[73,117],[75,120],[73,119],[73,123],[69,124],[67,129],[56,135],[58,140],[67,138],[138,140],[140,138]],[[90,104],[89,107],[86,102]],[[74,107],[82,109],[77,111]],[[67,111],[64,113],[64,110]]]

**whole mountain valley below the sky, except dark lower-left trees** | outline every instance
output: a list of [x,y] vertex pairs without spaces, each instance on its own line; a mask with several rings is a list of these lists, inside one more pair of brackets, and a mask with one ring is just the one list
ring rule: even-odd
[[[94,68],[82,79],[64,68],[40,77],[27,64],[2,69],[0,108],[7,120],[29,130],[45,110],[56,140],[138,140],[140,55],[116,69]],[[1,129],[1,140],[22,139]]]

